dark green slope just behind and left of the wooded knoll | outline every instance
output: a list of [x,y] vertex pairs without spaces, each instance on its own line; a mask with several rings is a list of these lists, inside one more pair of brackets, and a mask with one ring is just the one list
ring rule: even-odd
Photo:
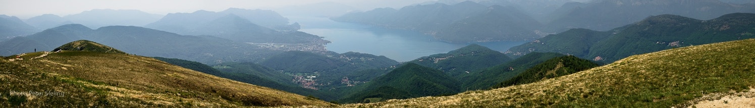
[[464,73],[455,76],[455,78],[461,81],[461,87],[466,89],[465,91],[488,89],[493,87],[493,85],[497,85],[499,82],[504,82],[507,79],[519,75],[519,73],[524,72],[532,66],[543,63],[553,57],[562,56],[565,55],[557,53],[530,53],[519,57],[516,60],[511,60],[510,62],[485,69],[479,69],[470,73]]

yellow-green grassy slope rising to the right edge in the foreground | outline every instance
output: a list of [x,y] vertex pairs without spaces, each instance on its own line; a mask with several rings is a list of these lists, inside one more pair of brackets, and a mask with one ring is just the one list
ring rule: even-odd
[[755,39],[675,48],[528,85],[344,106],[689,106],[705,94],[755,87],[752,46]]

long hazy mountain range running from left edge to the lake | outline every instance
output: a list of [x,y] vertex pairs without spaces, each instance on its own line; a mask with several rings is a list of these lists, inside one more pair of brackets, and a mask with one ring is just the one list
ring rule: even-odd
[[[17,35],[29,35],[29,32],[36,32],[37,29],[50,29],[56,26],[62,26],[71,23],[80,23],[89,28],[99,28],[102,26],[145,26],[147,28],[159,29],[166,32],[174,32],[181,35],[212,35],[222,39],[230,39],[236,42],[254,42],[254,43],[285,43],[285,44],[303,44],[300,48],[316,51],[324,49],[325,41],[317,35],[298,32],[300,25],[298,23],[288,24],[288,19],[282,17],[275,11],[270,10],[248,10],[242,8],[229,8],[225,11],[196,11],[194,13],[176,13],[165,16],[159,14],[148,14],[137,10],[112,10],[112,9],[94,9],[84,11],[80,14],[71,14],[59,17],[54,14],[43,14],[24,20],[34,27],[19,28],[17,20],[11,17],[3,23],[4,25],[16,21],[17,27],[7,28],[11,34],[5,35],[4,39],[10,39]],[[7,19],[4,17],[4,19]],[[2,26],[2,25],[0,25]],[[32,29],[35,28],[35,29]],[[5,30],[6,28],[0,28]],[[23,30],[28,29],[28,30]],[[24,33],[26,32],[26,33]],[[2,36],[2,34],[0,34]],[[0,39],[0,41],[3,41]],[[307,46],[309,45],[309,46]]]

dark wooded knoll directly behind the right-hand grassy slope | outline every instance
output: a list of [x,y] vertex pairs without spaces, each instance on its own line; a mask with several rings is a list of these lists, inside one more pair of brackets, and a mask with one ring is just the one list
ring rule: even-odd
[[566,76],[582,70],[591,69],[596,66],[600,65],[598,63],[593,63],[590,60],[580,59],[579,57],[571,55],[555,57],[536,66],[532,66],[532,68],[519,73],[519,75],[516,75],[509,80],[498,83],[498,85],[495,85],[492,88],[504,88],[511,85],[524,85],[544,79],[553,79],[559,76]]

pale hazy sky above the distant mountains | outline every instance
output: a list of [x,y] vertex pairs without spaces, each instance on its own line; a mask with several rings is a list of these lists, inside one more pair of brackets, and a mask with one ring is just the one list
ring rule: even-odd
[[197,10],[223,11],[227,8],[276,8],[287,5],[306,5],[318,2],[337,2],[363,10],[371,8],[401,8],[430,0],[0,0],[0,14],[21,19],[42,14],[60,17],[92,9],[135,9],[152,14],[193,12]]

